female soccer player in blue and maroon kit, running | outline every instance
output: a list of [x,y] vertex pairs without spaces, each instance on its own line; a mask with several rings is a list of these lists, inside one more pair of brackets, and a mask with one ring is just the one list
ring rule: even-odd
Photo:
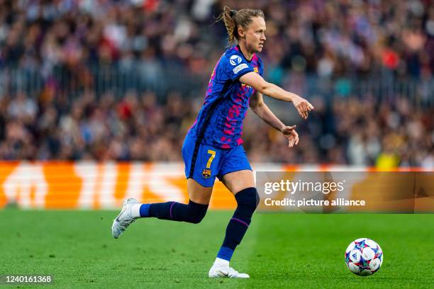
[[235,11],[225,6],[218,20],[225,23],[230,44],[238,45],[228,48],[218,60],[211,74],[204,106],[184,140],[182,157],[189,203],[140,204],[135,199],[125,200],[120,214],[113,221],[111,232],[118,238],[139,217],[194,224],[201,222],[208,209],[213,183],[218,177],[234,194],[237,208],[229,220],[226,236],[208,276],[249,278],[246,273],[238,273],[229,266],[233,251],[243,239],[259,203],[252,168],[241,145],[247,108],[250,106],[265,123],[282,132],[289,147],[293,147],[299,142],[295,125],[284,125],[262,101],[262,94],[291,101],[304,119],[313,106],[304,98],[262,78],[264,68],[256,55],[262,51],[266,39],[262,11]]

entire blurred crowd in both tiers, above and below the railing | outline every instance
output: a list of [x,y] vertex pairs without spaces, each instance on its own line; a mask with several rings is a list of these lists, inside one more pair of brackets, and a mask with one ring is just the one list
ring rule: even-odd
[[[213,24],[224,5],[265,12],[260,56],[266,78],[286,89],[311,74],[434,79],[430,0],[0,0],[0,159],[181,160],[204,95],[96,94],[89,67],[140,67],[147,81],[167,69],[208,79],[226,46],[223,23]],[[40,72],[45,88],[2,90],[10,67]],[[59,79],[59,69],[71,78]],[[84,91],[76,98],[63,91],[71,79]],[[313,98],[295,149],[249,114],[250,160],[433,169],[432,108],[370,94],[325,99]]]

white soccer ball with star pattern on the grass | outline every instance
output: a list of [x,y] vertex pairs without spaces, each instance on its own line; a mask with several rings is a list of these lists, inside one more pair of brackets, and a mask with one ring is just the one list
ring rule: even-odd
[[372,275],[382,266],[382,248],[372,239],[357,239],[351,242],[345,250],[345,263],[350,271],[356,275]]

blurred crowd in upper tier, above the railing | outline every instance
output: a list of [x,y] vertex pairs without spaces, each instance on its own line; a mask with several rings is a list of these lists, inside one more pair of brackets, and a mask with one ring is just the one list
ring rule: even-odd
[[91,63],[208,75],[226,45],[223,23],[211,25],[224,5],[265,12],[261,56],[275,81],[287,69],[432,77],[430,0],[0,0],[0,67],[38,67],[48,77],[65,66],[84,86]]

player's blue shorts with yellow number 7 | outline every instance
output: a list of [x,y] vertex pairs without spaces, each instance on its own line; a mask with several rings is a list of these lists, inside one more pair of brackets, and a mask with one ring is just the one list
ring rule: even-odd
[[233,171],[243,171],[252,167],[242,145],[231,149],[219,149],[211,145],[199,145],[194,156],[196,139],[189,133],[182,145],[182,158],[185,164],[185,176],[192,178],[202,186],[212,187],[216,177],[221,179]]

